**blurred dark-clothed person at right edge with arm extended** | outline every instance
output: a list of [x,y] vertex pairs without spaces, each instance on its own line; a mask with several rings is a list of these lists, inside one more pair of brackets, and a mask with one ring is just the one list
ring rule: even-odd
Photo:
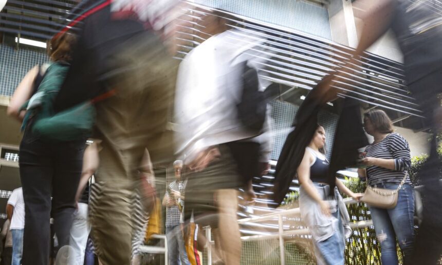
[[[407,264],[435,264],[442,253],[442,186],[440,161],[437,158],[437,134],[440,132],[440,100],[442,92],[442,10],[438,1],[431,0],[359,0],[354,3],[363,21],[358,47],[349,60],[348,68],[359,65],[360,55],[389,28],[396,34],[404,56],[406,81],[433,129],[430,157],[419,172],[425,185],[423,193],[423,221],[419,228],[412,259]],[[339,79],[336,76],[334,80]],[[325,79],[329,82],[330,79]],[[333,80],[331,80],[333,82]],[[329,93],[333,97],[336,91]],[[327,98],[324,97],[324,102]]]

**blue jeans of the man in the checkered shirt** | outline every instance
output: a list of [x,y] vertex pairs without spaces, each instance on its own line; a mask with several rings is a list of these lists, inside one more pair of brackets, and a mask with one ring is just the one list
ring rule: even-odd
[[[187,257],[181,225],[166,227],[168,258],[170,265],[190,265]],[[179,261],[178,261],[179,260]]]

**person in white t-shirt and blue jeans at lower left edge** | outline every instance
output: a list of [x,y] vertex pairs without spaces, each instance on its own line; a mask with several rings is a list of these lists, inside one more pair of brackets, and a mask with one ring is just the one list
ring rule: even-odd
[[6,205],[6,213],[11,222],[12,265],[20,265],[23,254],[23,230],[25,228],[25,201],[22,188],[14,189]]

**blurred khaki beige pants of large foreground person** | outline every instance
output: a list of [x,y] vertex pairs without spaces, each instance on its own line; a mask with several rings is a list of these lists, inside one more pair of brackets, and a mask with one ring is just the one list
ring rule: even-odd
[[126,69],[111,80],[117,94],[96,104],[95,137],[102,140],[96,181],[101,189],[93,194],[90,221],[104,265],[131,262],[131,202],[145,148],[153,163],[173,158],[173,140],[165,126],[177,62],[156,38],[131,40],[128,45],[112,58]]

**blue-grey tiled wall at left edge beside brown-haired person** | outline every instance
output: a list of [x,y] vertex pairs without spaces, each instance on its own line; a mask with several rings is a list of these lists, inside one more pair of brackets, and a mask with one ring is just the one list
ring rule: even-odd
[[0,45],[0,95],[12,96],[29,69],[48,61],[45,52]]

